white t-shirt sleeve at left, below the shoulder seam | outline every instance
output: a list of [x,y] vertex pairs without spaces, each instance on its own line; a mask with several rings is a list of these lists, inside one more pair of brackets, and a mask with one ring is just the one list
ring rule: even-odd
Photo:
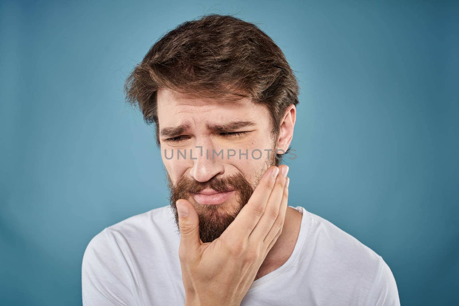
[[106,229],[86,247],[81,269],[84,306],[137,305],[117,253]]

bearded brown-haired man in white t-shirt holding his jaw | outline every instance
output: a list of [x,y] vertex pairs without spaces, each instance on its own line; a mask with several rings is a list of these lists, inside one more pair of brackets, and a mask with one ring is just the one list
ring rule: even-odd
[[381,256],[288,205],[280,160],[299,88],[257,26],[216,14],[180,24],[125,90],[155,124],[170,205],[91,240],[84,305],[400,304]]

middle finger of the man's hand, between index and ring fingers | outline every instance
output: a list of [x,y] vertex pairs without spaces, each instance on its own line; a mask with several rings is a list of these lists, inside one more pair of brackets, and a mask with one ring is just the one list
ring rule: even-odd
[[258,221],[255,228],[253,228],[253,231],[249,236],[249,244],[250,241],[258,244],[263,242],[266,238],[266,235],[273,227],[274,222],[277,220],[277,217],[279,216],[280,205],[282,204],[285,189],[285,179],[287,177],[288,166],[281,165],[279,168],[280,174],[277,176],[274,188],[269,195],[266,209],[264,210],[262,217]]

